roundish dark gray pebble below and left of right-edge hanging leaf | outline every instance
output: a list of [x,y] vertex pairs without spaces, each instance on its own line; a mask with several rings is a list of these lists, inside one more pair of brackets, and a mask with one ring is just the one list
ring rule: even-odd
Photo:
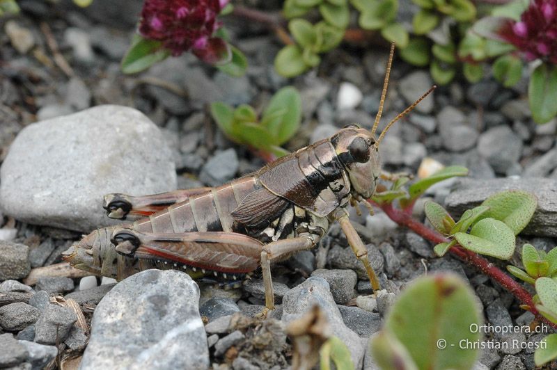
[[506,125],[493,127],[480,135],[478,152],[496,172],[504,174],[520,159],[522,140]]

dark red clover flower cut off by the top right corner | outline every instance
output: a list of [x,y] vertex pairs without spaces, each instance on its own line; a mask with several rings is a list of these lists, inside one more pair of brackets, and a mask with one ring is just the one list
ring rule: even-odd
[[506,22],[498,33],[528,61],[541,58],[557,63],[557,1],[533,0],[520,21]]

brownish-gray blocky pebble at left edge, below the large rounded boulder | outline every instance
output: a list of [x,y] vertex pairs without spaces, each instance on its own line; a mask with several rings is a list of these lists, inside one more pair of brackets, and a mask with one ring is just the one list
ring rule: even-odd
[[28,246],[0,241],[0,280],[25,278],[31,271],[28,257]]

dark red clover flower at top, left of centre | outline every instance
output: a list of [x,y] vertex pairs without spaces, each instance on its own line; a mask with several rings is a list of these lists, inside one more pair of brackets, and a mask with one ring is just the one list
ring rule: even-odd
[[207,63],[229,54],[228,45],[214,32],[221,27],[217,15],[229,0],[146,0],[139,33],[158,40],[173,56],[191,51]]

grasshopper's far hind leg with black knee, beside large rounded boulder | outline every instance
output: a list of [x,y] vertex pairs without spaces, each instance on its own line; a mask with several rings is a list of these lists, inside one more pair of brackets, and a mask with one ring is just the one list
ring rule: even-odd
[[153,195],[134,197],[132,195],[112,193],[104,195],[102,207],[107,210],[107,216],[124,220],[126,217],[139,218],[161,211],[172,204],[184,202],[192,195],[210,191],[211,188],[193,188],[169,191]]

